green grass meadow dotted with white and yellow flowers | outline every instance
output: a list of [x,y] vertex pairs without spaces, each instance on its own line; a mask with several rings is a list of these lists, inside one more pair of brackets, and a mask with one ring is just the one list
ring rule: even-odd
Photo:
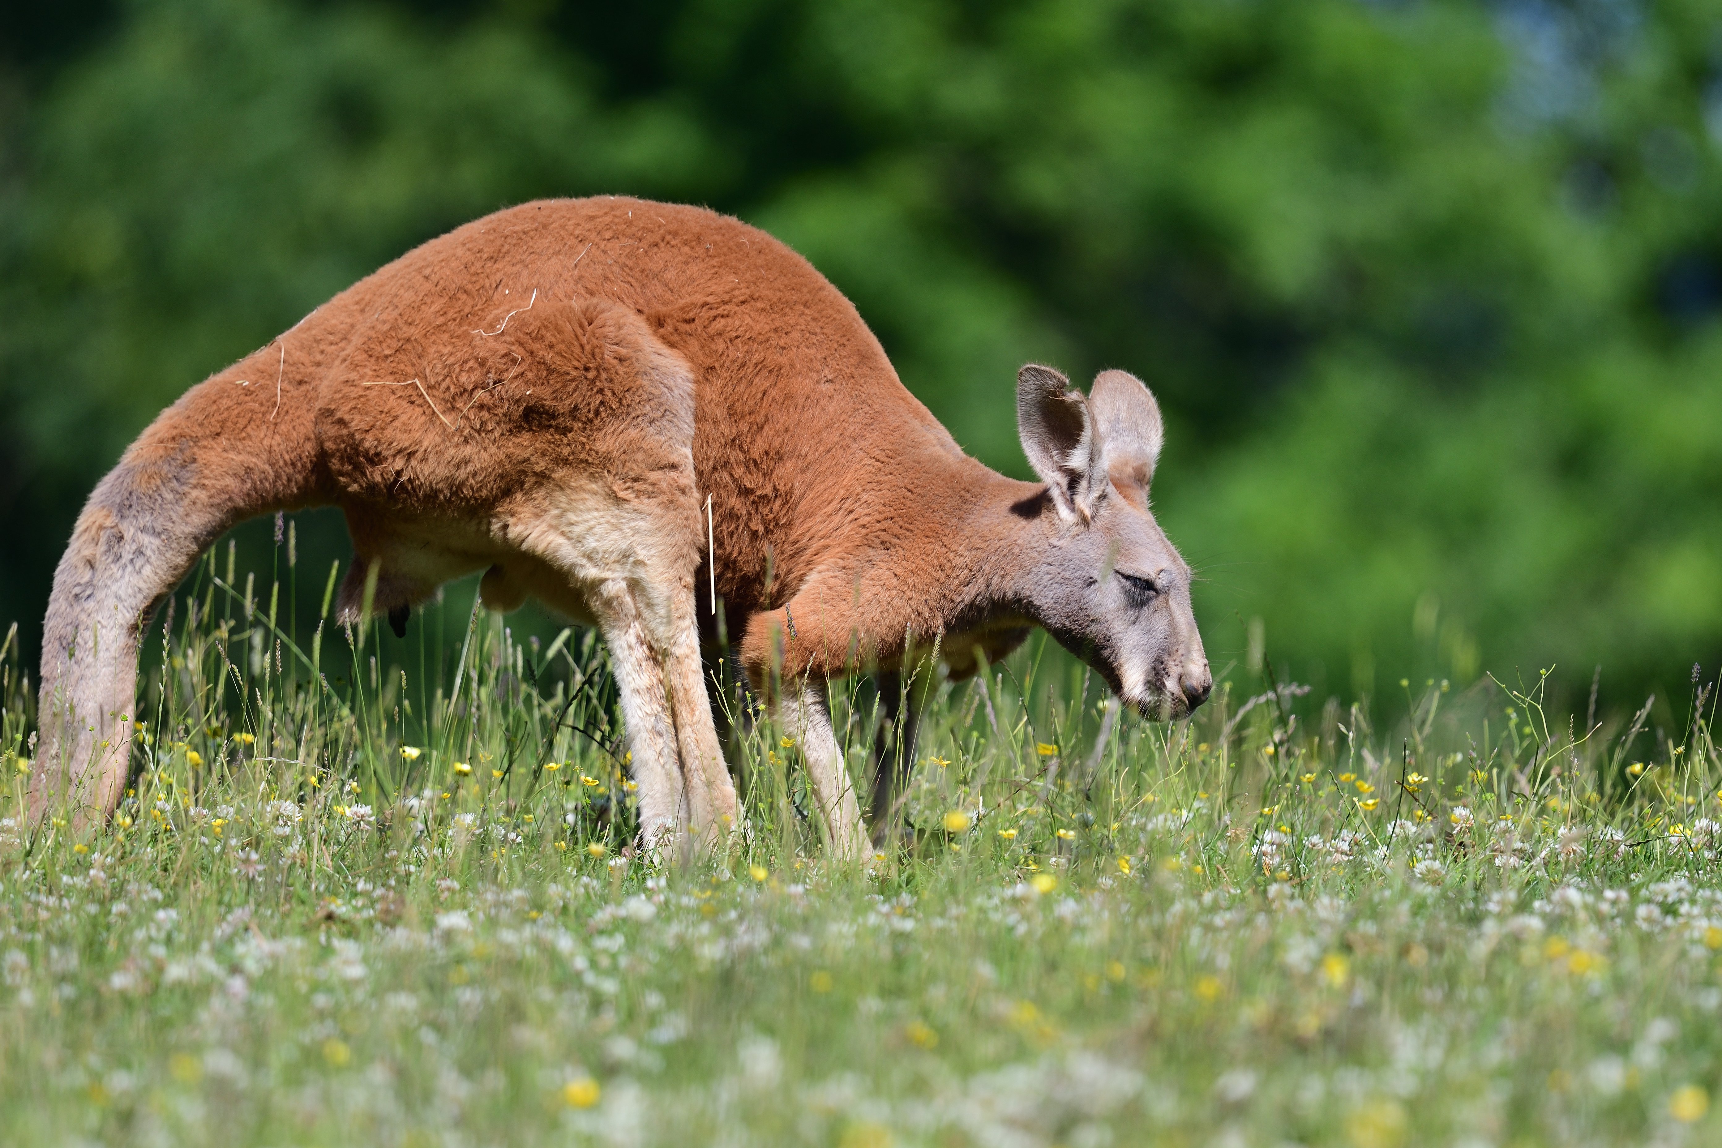
[[[1233,675],[1188,726],[1112,723],[1035,645],[938,687],[868,871],[749,721],[746,835],[654,869],[589,635],[449,606],[446,645],[294,647],[217,573],[152,628],[108,828],[22,824],[0,656],[7,1143],[1719,1133],[1708,719],[1586,735],[1541,680],[1429,683],[1378,731]],[[864,775],[873,702],[835,707]]]

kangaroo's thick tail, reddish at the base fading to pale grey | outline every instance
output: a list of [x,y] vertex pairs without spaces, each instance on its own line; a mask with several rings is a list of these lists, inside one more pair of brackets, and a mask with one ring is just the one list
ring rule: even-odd
[[310,387],[291,387],[282,404],[276,360],[276,346],[263,348],[188,391],[77,516],[43,621],[31,819],[59,802],[79,821],[114,812],[155,602],[234,523],[317,501]]

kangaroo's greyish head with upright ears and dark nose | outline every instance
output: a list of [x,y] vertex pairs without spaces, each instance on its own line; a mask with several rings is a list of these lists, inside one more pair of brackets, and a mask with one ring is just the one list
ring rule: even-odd
[[1190,566],[1149,509],[1161,408],[1135,375],[1090,394],[1050,367],[1016,375],[1023,451],[1047,484],[1050,540],[1031,580],[1037,620],[1145,718],[1181,718],[1214,676],[1190,611]]

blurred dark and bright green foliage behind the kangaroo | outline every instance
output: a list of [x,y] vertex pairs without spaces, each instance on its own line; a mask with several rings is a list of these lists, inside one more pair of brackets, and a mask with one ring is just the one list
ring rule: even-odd
[[1722,657],[1717,3],[5,19],[0,618],[26,640],[83,497],[184,387],[467,219],[625,191],[801,250],[1007,472],[1019,363],[1143,377],[1216,668],[1254,628],[1324,692],[1601,664],[1608,704],[1684,707]]

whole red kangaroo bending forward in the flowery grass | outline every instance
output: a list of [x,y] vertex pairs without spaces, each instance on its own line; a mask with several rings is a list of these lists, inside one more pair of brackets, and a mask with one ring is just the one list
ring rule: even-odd
[[[610,647],[647,843],[715,840],[737,804],[696,587],[711,497],[740,661],[799,733],[833,849],[866,849],[825,680],[937,644],[957,675],[1035,623],[1152,719],[1212,687],[1190,570],[1149,511],[1161,415],[1109,370],[1016,387],[1044,482],[968,458],[856,308],[746,224],[627,198],[527,203],[432,239],[191,387],[90,496],[53,577],[36,816],[110,814],[139,633],[238,522],[339,506],[341,613],[396,630],[484,570]],[[709,608],[709,604],[708,604]]]

